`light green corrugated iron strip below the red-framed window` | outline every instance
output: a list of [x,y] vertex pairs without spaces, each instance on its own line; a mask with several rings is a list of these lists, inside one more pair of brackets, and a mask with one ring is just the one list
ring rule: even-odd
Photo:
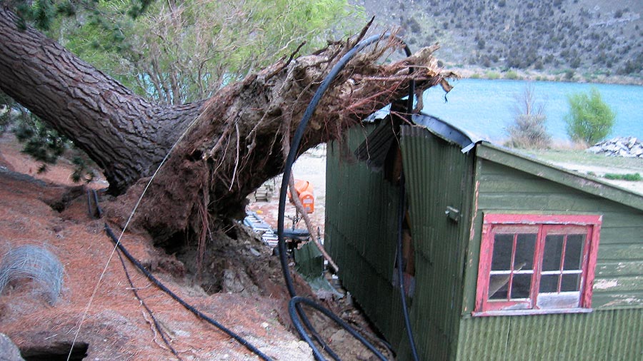
[[643,360],[643,312],[472,317],[458,360]]

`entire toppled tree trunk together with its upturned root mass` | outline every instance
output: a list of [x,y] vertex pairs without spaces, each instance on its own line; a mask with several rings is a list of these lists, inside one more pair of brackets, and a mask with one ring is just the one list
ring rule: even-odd
[[[34,29],[16,28],[0,9],[0,87],[103,168],[112,193],[132,204],[151,183],[136,219],[159,240],[192,229],[201,240],[213,219],[243,210],[246,195],[281,173],[289,143],[319,83],[355,41],[279,61],[212,98],[164,107],[146,101]],[[409,79],[424,89],[442,83],[437,46],[378,64],[399,47],[382,39],[339,73],[317,106],[299,153],[338,138],[364,116],[405,96]],[[412,76],[409,66],[416,66]],[[138,183],[136,183],[138,181]],[[136,183],[136,184],[135,184]]]

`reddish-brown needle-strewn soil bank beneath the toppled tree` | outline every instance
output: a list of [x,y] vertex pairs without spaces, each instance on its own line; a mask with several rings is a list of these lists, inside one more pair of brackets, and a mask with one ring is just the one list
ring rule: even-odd
[[[23,355],[66,357],[74,342],[74,350],[81,355],[86,352],[86,360],[257,359],[224,332],[181,307],[126,261],[134,288],[176,350],[178,356],[174,355],[134,297],[114,244],[104,231],[107,222],[119,235],[120,223],[89,215],[86,190],[90,188],[99,190],[101,205],[110,207],[112,200],[100,191],[106,186],[104,180],[74,185],[71,165],[64,161],[38,174],[39,164],[19,150],[13,136],[0,137],[0,256],[18,245],[41,245],[59,258],[65,270],[64,290],[54,305],[47,302],[42,286],[29,280],[11,283],[0,295],[0,332]],[[318,204],[323,205],[323,200]],[[264,207],[269,214],[274,201],[250,207]],[[323,212],[318,214],[315,221],[323,226]],[[121,243],[179,297],[269,357],[310,360],[309,346],[294,335],[286,315],[288,296],[271,248],[241,225],[215,231],[212,239],[198,279],[190,245],[169,254],[154,248],[149,235],[129,231]],[[313,296],[306,283],[295,279],[301,295]],[[370,332],[359,311],[343,300],[327,298],[323,304]],[[352,337],[345,337],[343,330],[317,315],[312,318],[343,360],[369,360],[369,352]]]

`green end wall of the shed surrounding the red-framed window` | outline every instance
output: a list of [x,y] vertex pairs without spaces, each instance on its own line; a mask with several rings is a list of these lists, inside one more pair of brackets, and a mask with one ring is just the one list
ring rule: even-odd
[[[539,163],[527,165],[532,160],[499,152],[484,143],[477,151],[477,197],[472,203],[457,360],[641,360],[641,197]],[[594,311],[471,317],[484,213],[603,215]]]

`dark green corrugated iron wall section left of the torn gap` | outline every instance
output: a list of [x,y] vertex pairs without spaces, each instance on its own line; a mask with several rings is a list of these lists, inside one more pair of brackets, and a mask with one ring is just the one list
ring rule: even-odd
[[374,125],[353,128],[327,148],[326,238],[339,277],[392,345],[402,340],[401,302],[392,286],[398,188],[354,159]]

